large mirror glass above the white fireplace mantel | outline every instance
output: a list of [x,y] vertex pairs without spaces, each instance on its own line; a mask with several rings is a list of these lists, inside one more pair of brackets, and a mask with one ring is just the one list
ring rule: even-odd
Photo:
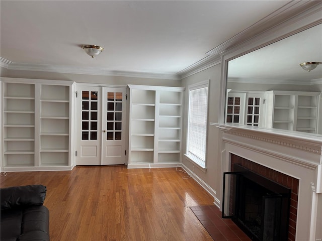
[[228,61],[225,123],[322,136],[322,24]]

